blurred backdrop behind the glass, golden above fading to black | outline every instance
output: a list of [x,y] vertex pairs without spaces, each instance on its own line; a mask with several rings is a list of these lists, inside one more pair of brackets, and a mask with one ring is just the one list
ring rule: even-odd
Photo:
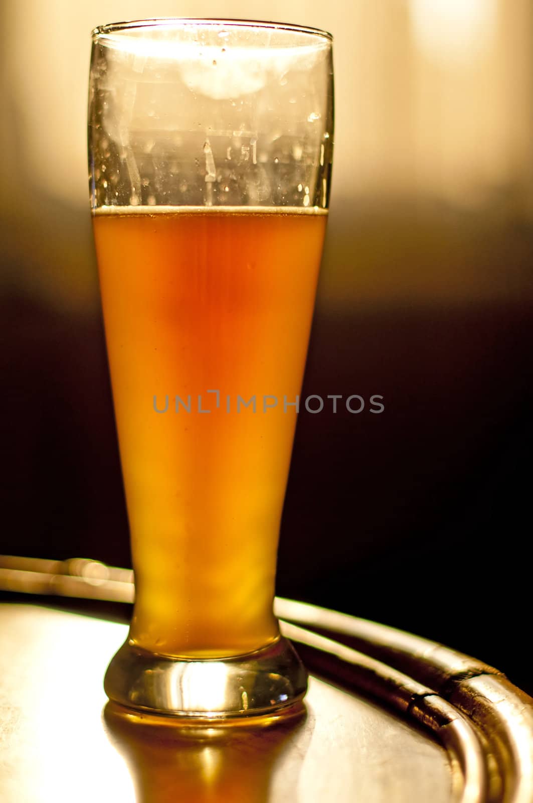
[[[89,32],[237,0],[6,0],[0,552],[130,565],[87,203]],[[332,207],[278,593],[435,638],[529,691],[530,0],[271,2],[335,37]],[[331,410],[331,408],[330,408]]]

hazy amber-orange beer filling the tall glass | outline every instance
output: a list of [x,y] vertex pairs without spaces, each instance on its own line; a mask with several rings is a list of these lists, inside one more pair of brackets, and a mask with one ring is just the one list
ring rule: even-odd
[[93,217],[136,646],[214,658],[279,635],[279,523],[326,220],[246,207]]

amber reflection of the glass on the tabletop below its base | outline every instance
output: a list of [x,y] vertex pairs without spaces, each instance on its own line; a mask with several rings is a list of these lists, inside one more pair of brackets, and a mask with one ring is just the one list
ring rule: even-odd
[[[104,719],[112,744],[132,772],[137,803],[166,803],[169,789],[173,800],[187,803],[266,803],[276,762],[291,742],[304,744],[306,738],[303,706],[295,717],[266,718],[271,727],[176,727],[169,719],[161,726],[157,717],[143,717],[116,703],[108,703]],[[291,780],[298,777],[303,754],[291,777],[285,776],[287,800],[295,793]]]

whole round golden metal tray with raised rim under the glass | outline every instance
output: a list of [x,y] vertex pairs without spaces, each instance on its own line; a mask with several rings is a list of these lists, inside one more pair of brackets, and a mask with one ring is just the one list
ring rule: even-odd
[[[132,599],[125,570],[44,563],[0,560],[0,587]],[[196,728],[106,705],[125,625],[0,605],[2,803],[533,803],[533,700],[500,672],[314,605],[276,613],[311,671],[303,710]]]

